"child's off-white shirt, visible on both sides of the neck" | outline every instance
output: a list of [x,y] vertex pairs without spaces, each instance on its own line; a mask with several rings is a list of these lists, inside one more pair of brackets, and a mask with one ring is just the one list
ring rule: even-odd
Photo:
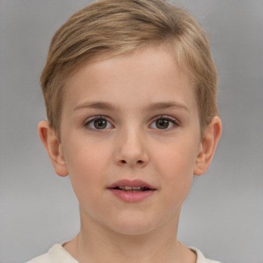
[[[46,254],[35,257],[27,263],[79,263],[63,248],[63,245],[67,242],[55,244]],[[196,263],[220,263],[219,261],[205,258],[202,252],[196,248],[190,247],[190,249],[197,255]]]

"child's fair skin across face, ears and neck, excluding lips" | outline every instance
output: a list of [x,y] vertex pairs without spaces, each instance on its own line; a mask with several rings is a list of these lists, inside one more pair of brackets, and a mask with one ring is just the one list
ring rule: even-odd
[[[39,124],[55,171],[69,174],[80,204],[81,231],[64,248],[79,262],[196,262],[176,238],[180,209],[193,175],[210,165],[221,122],[214,117],[201,137],[187,70],[164,48],[147,47],[84,65],[65,89],[61,141]],[[107,188],[121,179],[155,191],[123,201]]]

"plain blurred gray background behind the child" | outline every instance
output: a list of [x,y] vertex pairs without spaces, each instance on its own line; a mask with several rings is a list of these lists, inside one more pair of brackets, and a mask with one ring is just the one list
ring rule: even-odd
[[[0,262],[20,263],[79,230],[68,178],[37,136],[39,76],[53,33],[84,0],[0,2]],[[209,171],[194,178],[179,239],[223,262],[263,262],[263,1],[185,0],[209,32],[223,134]],[[166,263],[166,262],[163,262]]]

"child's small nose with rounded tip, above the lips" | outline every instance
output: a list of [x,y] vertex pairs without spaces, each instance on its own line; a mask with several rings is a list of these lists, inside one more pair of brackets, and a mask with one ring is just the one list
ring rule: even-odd
[[140,130],[126,129],[116,139],[115,161],[119,166],[144,167],[149,158]]

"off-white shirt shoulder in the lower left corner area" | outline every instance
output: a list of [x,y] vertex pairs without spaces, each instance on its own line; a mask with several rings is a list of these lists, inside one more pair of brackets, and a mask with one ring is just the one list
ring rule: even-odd
[[46,254],[37,256],[27,263],[78,263],[64,248],[61,244],[55,244]]

